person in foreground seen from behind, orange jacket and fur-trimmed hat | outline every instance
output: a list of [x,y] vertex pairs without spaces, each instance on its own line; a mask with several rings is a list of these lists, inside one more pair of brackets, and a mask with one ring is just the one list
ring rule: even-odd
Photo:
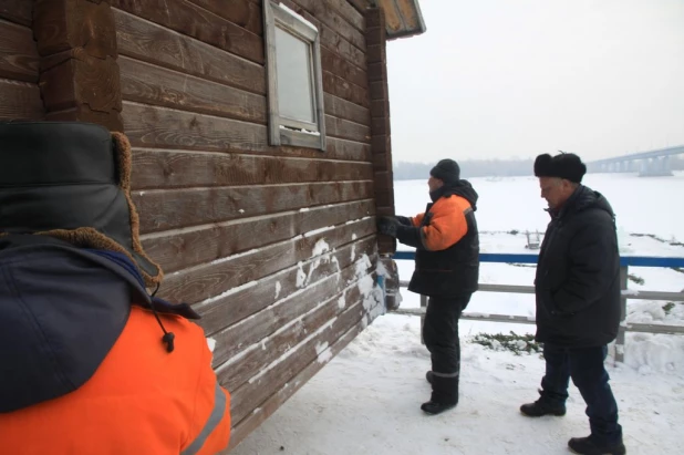
[[199,316],[147,291],[163,272],[141,246],[131,166],[126,137],[97,125],[0,124],[0,454],[228,446]]

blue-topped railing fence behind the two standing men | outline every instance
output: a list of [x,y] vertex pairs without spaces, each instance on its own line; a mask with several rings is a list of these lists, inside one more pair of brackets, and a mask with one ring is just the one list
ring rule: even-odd
[[[414,260],[415,251],[396,251],[393,255],[395,260]],[[497,254],[483,252],[479,256],[480,262],[489,263],[531,263],[537,265],[538,255],[529,254]],[[666,324],[643,324],[626,322],[626,301],[628,299],[638,300],[663,300],[673,302],[684,302],[684,291],[682,292],[661,292],[661,291],[640,291],[628,288],[628,271],[630,267],[659,267],[684,270],[684,258],[675,257],[651,257],[651,256],[622,256],[620,258],[620,287],[622,289],[622,314],[620,332],[615,340],[614,359],[616,362],[624,361],[625,332],[642,333],[663,333],[663,334],[684,334],[684,325]],[[400,286],[408,286],[407,281],[400,281]],[[535,293],[532,286],[519,285],[489,285],[480,283],[479,290],[484,292],[507,292],[507,293]],[[421,296],[419,309],[397,309],[394,312],[400,314],[421,316],[421,325],[427,307],[427,298]],[[485,314],[466,312],[463,319],[487,321],[487,322],[512,322],[512,323],[535,323],[535,318],[514,316],[514,314]]]

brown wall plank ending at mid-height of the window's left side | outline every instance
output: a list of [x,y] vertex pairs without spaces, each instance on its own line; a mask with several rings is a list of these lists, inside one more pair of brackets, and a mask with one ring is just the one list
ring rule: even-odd
[[113,11],[120,54],[266,94],[263,66],[125,11]]

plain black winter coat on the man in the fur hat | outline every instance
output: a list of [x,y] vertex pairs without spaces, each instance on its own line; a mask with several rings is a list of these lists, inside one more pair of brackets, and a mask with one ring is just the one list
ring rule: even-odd
[[541,244],[535,290],[537,341],[567,348],[608,344],[620,324],[620,255],[613,210],[579,186]]

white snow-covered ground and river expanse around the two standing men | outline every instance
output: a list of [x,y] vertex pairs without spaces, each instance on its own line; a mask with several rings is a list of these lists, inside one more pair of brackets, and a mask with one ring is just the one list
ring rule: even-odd
[[[529,252],[526,230],[543,232],[537,179],[475,178],[480,195],[478,224],[485,252]],[[612,203],[623,255],[684,257],[684,175],[639,178],[629,174],[588,175],[587,185]],[[425,182],[396,182],[397,213],[415,215],[427,201]],[[509,234],[517,230],[519,234]],[[634,234],[650,234],[634,236]],[[406,249],[405,247],[400,247]],[[400,261],[402,279],[413,265]],[[531,285],[533,268],[486,263],[480,281]],[[671,269],[630,269],[630,288],[684,291],[684,273]],[[418,297],[403,290],[402,307]],[[632,300],[628,319],[684,325],[684,304]],[[533,297],[477,292],[468,309],[533,316]],[[584,404],[571,386],[564,417],[526,418],[521,403],[537,399],[543,374],[539,354],[515,355],[471,342],[480,332],[525,333],[533,325],[460,322],[460,402],[454,411],[426,416],[425,371],[429,356],[419,342],[419,319],[382,316],[330,362],[234,454],[563,454],[567,440],[588,434]],[[625,363],[609,359],[611,384],[630,454],[678,453],[684,437],[684,337],[628,334]]]

